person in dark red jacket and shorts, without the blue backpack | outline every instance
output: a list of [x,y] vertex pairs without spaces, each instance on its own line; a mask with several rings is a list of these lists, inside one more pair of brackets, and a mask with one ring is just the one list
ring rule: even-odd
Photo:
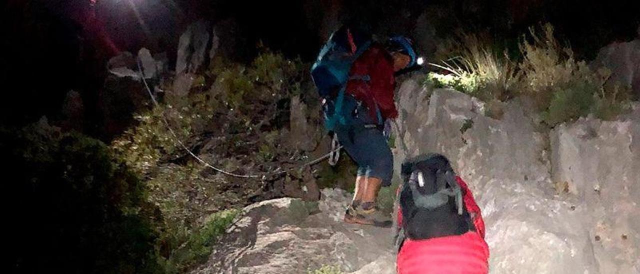
[[356,123],[339,126],[335,133],[347,154],[358,165],[353,202],[344,221],[387,227],[390,216],[376,209],[383,186],[391,184],[393,156],[384,129],[397,117],[394,74],[415,63],[415,52],[406,38],[394,38],[387,47],[373,43],[353,63],[346,85]]

